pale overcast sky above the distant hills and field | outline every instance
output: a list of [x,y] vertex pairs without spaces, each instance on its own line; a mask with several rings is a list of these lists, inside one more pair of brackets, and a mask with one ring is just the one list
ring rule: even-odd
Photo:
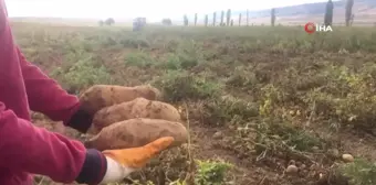
[[[180,18],[215,10],[262,10],[327,0],[6,0],[9,17],[135,18],[148,20]],[[189,2],[189,3],[187,3]],[[213,3],[216,2],[216,3]],[[229,2],[231,3],[229,6]]]

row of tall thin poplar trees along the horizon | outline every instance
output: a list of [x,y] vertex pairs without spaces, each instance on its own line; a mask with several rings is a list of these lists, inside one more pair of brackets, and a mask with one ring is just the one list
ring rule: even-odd
[[[346,21],[346,26],[349,26],[353,24],[354,21],[354,14],[353,14],[353,6],[354,6],[354,0],[347,0],[346,2],[346,13],[345,13],[345,21]],[[326,3],[326,10],[325,10],[325,15],[324,15],[324,24],[325,25],[332,25],[333,23],[333,2],[332,0],[328,0]],[[249,10],[247,10],[247,25],[249,25]],[[195,25],[197,25],[197,19],[198,15],[197,13],[195,14]],[[239,14],[239,26],[241,25],[241,20],[242,20],[242,14]],[[209,18],[208,14],[205,15],[205,26],[208,26],[209,24]],[[188,17],[184,15],[184,25],[188,26]],[[212,14],[212,25],[217,25],[217,12],[213,12]],[[231,19],[231,9],[227,10],[226,13],[226,22],[224,22],[224,11],[221,11],[221,18],[220,18],[220,26],[232,26],[233,25],[233,19]],[[271,9],[271,25],[275,25],[275,9]]]

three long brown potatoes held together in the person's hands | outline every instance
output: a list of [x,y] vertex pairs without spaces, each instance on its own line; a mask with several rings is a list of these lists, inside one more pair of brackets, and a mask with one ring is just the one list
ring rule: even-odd
[[86,148],[100,151],[143,146],[161,137],[174,137],[170,148],[188,140],[179,111],[157,101],[160,91],[152,86],[95,85],[84,91],[82,108],[94,115],[85,141]]

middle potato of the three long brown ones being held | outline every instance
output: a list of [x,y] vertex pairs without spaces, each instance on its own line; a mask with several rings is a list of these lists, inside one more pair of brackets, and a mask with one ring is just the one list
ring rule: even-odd
[[133,118],[163,119],[180,122],[179,111],[171,105],[136,98],[132,101],[105,107],[94,115],[93,123],[87,133],[97,134],[103,128]]

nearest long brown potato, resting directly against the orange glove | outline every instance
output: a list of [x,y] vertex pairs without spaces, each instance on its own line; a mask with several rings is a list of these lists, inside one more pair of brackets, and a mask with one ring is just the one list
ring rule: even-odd
[[187,129],[179,122],[160,119],[135,118],[105,127],[98,134],[84,142],[87,149],[100,151],[143,146],[163,137],[175,141],[168,148],[178,146],[188,140]]

